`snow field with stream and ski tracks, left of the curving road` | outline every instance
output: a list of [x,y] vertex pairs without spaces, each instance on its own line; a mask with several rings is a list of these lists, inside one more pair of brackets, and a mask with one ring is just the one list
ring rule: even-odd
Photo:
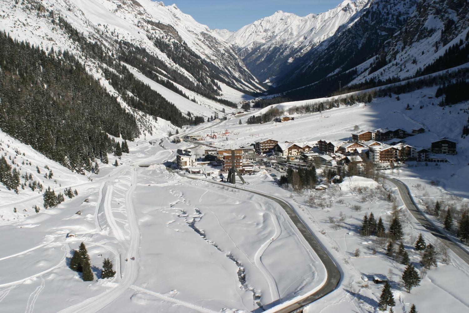
[[[323,282],[322,264],[278,205],[168,172],[162,163],[174,160],[176,146],[151,140],[131,143],[119,167],[100,164],[87,178],[3,136],[13,156],[14,146],[25,152],[18,162],[32,161],[23,165],[30,172],[48,164],[53,179],[35,176],[45,186],[79,194],[36,214],[30,207],[41,193],[1,190],[2,311],[251,311]],[[113,261],[113,280],[83,282],[67,267],[82,241],[97,278],[102,260]]]

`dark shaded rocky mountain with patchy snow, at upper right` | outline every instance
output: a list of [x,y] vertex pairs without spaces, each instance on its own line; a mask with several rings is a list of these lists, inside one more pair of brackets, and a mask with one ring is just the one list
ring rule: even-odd
[[284,67],[274,92],[295,90],[289,96],[309,99],[338,90],[339,82],[364,88],[469,62],[468,16],[467,1],[371,0],[333,36]]

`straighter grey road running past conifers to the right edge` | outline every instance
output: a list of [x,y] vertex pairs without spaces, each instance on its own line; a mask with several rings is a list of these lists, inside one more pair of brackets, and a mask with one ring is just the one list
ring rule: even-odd
[[446,236],[441,232],[429,219],[425,217],[416,206],[414,199],[410,196],[410,191],[406,184],[394,178],[387,178],[386,181],[394,184],[401,195],[402,202],[407,207],[409,212],[416,218],[416,220],[424,226],[433,236],[437,237],[443,244],[456,253],[463,261],[469,264],[469,254],[466,250],[462,249],[456,244],[451,237]]

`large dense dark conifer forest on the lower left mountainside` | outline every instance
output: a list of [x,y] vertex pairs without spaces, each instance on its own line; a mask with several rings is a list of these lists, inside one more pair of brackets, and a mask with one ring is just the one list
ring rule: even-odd
[[67,51],[46,53],[0,32],[0,128],[47,158],[84,174],[113,153],[110,134],[133,140],[126,112]]

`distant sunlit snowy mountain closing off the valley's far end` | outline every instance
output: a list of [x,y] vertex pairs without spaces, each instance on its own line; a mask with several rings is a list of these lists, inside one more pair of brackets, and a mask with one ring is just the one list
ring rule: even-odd
[[233,44],[252,73],[266,80],[333,36],[366,4],[366,0],[344,0],[327,12],[306,16],[277,11],[236,32],[215,31]]

